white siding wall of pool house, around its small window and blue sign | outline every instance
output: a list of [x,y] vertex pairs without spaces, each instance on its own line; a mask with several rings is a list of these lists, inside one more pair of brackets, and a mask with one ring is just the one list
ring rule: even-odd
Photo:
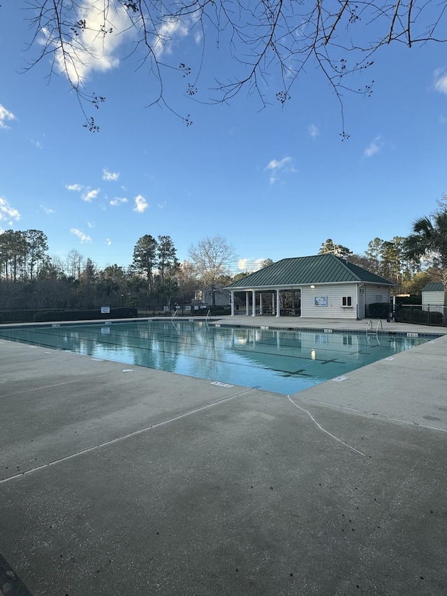
[[[327,296],[327,306],[316,306],[315,296]],[[342,307],[342,297],[351,296],[352,306]],[[318,284],[301,290],[301,317],[357,319],[357,284]]]

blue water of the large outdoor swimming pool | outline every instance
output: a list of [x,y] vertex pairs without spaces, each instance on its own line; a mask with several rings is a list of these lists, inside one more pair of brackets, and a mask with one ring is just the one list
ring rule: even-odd
[[1,328],[0,338],[286,395],[431,339],[166,320]]

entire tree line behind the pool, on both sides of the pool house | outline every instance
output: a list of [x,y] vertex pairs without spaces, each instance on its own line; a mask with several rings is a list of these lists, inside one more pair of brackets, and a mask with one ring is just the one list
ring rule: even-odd
[[[428,282],[447,287],[447,207],[413,223],[409,236],[370,240],[364,254],[353,254],[328,238],[318,254],[330,252],[389,279],[395,294],[420,295]],[[64,261],[48,254],[45,233],[6,230],[0,234],[0,307],[140,306],[163,310],[191,301],[207,287],[215,291],[250,271],[232,275],[233,247],[221,236],[205,238],[180,262],[169,235],[137,240],[129,266],[101,269],[77,250]],[[262,266],[273,263],[265,259]],[[447,303],[447,302],[446,302]]]

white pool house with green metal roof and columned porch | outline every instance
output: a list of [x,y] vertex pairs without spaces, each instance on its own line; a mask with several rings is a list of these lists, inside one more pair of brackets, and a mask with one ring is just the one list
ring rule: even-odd
[[[245,302],[252,317],[363,319],[372,303],[390,303],[393,283],[334,254],[282,259],[227,286],[231,315]],[[284,307],[284,298],[288,307]],[[245,298],[245,300],[244,300]],[[241,309],[242,310],[242,309]]]

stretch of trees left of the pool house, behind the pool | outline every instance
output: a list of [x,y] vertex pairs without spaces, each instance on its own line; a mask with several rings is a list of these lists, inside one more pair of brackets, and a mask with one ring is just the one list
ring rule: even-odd
[[[220,236],[205,238],[182,263],[169,235],[137,240],[129,266],[101,269],[80,252],[50,256],[42,231],[0,233],[0,307],[142,306],[163,310],[191,301],[198,289],[232,281],[235,253]],[[214,299],[214,292],[212,293]]]

